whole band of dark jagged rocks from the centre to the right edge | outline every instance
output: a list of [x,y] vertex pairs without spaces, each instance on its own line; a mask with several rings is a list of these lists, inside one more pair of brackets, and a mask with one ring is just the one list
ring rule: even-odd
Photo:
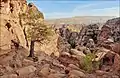
[[60,36],[63,42],[69,44],[71,48],[86,46],[93,51],[95,47],[102,45],[107,49],[119,53],[120,18],[108,20],[102,28],[99,23],[84,26],[80,32],[72,32],[63,25],[60,28]]

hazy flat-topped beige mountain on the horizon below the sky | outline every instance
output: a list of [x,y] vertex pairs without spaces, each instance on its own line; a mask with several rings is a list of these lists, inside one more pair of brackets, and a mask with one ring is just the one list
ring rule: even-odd
[[49,24],[91,24],[105,23],[112,18],[115,18],[115,16],[76,16],[72,18],[49,19],[45,21]]

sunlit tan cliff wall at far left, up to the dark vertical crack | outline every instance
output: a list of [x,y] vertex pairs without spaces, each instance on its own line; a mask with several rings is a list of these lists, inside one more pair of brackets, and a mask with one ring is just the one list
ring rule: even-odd
[[[2,0],[0,5],[0,49],[11,49],[11,40],[26,47],[23,27],[19,19],[19,14],[24,12],[23,7],[27,6],[26,0]],[[4,53],[0,52],[1,54]]]

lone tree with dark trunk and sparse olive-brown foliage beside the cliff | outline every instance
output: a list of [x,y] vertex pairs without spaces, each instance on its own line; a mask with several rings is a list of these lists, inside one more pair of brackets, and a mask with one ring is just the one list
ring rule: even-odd
[[44,40],[49,40],[49,36],[52,34],[52,28],[45,25],[40,19],[43,19],[43,15],[39,11],[33,12],[29,10],[27,14],[29,22],[27,22],[27,37],[30,40],[30,54],[29,57],[34,56],[34,44],[39,42],[42,44]]

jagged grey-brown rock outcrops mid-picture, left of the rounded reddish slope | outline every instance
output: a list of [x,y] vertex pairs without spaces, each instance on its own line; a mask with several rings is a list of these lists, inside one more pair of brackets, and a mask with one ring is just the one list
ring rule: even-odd
[[59,52],[69,52],[70,49],[75,49],[81,46],[86,46],[91,51],[94,50],[97,44],[97,36],[99,35],[100,24],[91,24],[84,26],[80,32],[72,32],[63,25],[59,29],[58,49]]

